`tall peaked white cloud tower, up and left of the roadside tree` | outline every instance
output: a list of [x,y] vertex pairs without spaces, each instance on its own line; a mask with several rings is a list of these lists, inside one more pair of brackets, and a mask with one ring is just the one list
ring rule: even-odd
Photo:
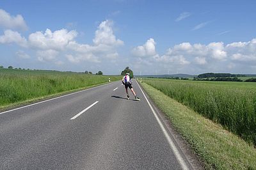
[[113,22],[110,20],[101,22],[97,31],[95,31],[95,38],[93,39],[93,43],[95,45],[124,45],[122,40],[116,40],[116,36],[113,35],[112,26]]

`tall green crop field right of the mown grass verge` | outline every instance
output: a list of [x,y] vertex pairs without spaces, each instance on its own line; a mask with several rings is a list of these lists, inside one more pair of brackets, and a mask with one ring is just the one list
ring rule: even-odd
[[244,88],[246,82],[230,82],[237,87],[163,79],[144,82],[256,146],[256,88]]

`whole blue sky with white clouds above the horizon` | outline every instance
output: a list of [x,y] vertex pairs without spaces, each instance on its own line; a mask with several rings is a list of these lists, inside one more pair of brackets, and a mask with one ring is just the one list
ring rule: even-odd
[[0,1],[0,65],[255,73],[256,1]]

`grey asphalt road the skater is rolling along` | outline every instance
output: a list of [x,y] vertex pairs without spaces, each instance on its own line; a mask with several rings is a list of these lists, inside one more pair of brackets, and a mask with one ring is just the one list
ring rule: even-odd
[[118,81],[0,113],[0,169],[193,169],[133,86],[141,101]]

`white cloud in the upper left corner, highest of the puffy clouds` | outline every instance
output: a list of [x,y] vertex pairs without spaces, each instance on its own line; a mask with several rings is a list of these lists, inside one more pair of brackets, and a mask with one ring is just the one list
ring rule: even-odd
[[27,30],[25,20],[21,15],[11,16],[10,13],[0,9],[0,27],[4,29],[21,29]]

